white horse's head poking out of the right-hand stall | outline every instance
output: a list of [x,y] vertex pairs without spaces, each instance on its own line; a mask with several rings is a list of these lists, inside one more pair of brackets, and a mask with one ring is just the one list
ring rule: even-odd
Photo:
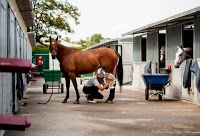
[[176,52],[176,58],[174,61],[174,67],[179,68],[181,63],[189,58],[192,58],[192,48],[183,48],[183,46],[177,46],[178,51]]

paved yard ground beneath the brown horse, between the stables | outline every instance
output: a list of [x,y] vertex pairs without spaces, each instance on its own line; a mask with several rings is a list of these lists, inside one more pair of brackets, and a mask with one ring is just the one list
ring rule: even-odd
[[[117,89],[113,104],[104,101],[87,103],[79,85],[80,104],[75,105],[75,92],[71,87],[68,103],[61,101],[64,94],[42,93],[39,80],[28,88],[18,115],[26,116],[32,125],[25,131],[6,131],[5,136],[175,136],[200,135],[200,107],[188,102],[157,96],[146,101],[144,91],[124,86],[122,93]],[[57,91],[57,90],[56,90]],[[50,93],[51,90],[48,90]]]

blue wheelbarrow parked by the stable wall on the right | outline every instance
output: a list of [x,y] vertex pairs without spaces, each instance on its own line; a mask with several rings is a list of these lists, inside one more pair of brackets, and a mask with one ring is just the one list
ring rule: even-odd
[[[170,84],[170,74],[142,74],[145,89],[145,99],[149,100],[153,95],[158,95],[159,100],[163,100],[165,88]],[[152,91],[153,90],[153,91]]]

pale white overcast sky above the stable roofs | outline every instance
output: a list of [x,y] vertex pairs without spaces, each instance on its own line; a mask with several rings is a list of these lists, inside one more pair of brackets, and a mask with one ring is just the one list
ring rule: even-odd
[[104,38],[121,35],[200,6],[200,0],[68,0],[81,13],[80,24],[70,21],[75,31],[71,41],[86,40],[93,34]]

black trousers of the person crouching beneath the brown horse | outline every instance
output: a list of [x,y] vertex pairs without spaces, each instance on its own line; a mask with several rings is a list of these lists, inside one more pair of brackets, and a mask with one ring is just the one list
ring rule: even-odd
[[85,94],[88,94],[88,100],[93,100],[93,99],[103,99],[103,95],[99,93],[98,88],[95,86],[83,87],[83,92]]

